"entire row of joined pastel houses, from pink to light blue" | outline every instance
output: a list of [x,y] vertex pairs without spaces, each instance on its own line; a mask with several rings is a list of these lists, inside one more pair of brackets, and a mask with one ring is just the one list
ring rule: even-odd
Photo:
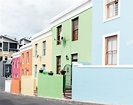
[[84,0],[51,19],[13,55],[12,92],[133,104],[130,2]]

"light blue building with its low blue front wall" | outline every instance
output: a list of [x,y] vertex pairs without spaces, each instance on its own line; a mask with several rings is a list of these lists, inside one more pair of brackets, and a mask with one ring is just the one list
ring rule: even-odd
[[93,0],[92,62],[73,63],[74,100],[133,105],[132,3]]

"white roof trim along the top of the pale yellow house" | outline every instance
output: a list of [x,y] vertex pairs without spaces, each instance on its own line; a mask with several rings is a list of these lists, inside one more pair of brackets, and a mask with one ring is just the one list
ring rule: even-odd
[[48,37],[48,36],[50,36],[50,35],[52,35],[52,32],[51,32],[51,28],[49,27],[49,28],[47,28],[47,29],[45,29],[45,30],[43,30],[43,31],[41,31],[41,32],[39,32],[39,33],[37,33],[37,34],[35,34],[35,35],[31,38],[31,41],[32,41],[32,42],[36,42],[36,41],[38,41],[38,40],[40,40],[40,39],[42,39],[42,38]]

